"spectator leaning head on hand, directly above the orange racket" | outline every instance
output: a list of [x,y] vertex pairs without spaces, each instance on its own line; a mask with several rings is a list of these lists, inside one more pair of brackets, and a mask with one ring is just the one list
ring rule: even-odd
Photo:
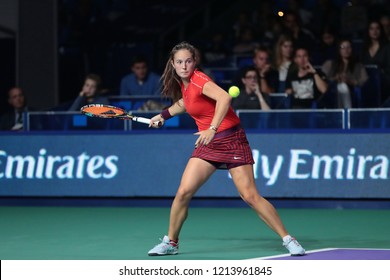
[[108,98],[100,95],[100,76],[88,74],[85,77],[79,96],[73,101],[68,111],[79,111],[81,107],[89,104],[109,104]]

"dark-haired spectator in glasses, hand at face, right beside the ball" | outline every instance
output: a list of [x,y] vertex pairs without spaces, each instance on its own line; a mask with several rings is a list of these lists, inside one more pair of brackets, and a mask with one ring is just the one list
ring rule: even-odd
[[265,101],[267,96],[260,92],[260,77],[256,68],[253,66],[246,67],[241,74],[240,95],[232,100],[232,107],[238,109],[261,109],[270,110]]

